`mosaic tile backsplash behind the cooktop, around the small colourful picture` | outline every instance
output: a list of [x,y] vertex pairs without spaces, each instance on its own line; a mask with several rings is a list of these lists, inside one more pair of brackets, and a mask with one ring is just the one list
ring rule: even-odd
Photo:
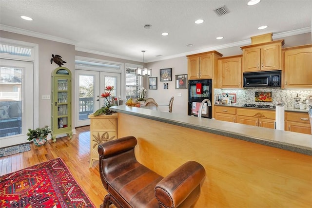
[[[238,105],[249,104],[263,104],[263,105],[275,105],[277,100],[285,102],[285,107],[292,108],[294,97],[306,97],[312,94],[312,89],[306,90],[282,90],[280,88],[245,88],[242,90],[238,89],[214,89],[215,95],[222,93],[235,93],[236,103]],[[272,103],[271,102],[256,102],[254,99],[255,92],[272,92]]]

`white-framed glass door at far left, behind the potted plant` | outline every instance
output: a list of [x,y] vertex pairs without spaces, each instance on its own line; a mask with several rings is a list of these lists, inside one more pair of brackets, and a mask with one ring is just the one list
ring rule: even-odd
[[26,143],[34,128],[33,62],[0,59],[0,148]]

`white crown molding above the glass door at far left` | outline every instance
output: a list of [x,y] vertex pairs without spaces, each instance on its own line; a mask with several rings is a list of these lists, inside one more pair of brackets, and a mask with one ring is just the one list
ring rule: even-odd
[[70,45],[78,44],[78,41],[75,41],[75,40],[59,38],[59,37],[56,37],[56,36],[50,36],[50,35],[47,35],[47,34],[37,33],[37,32],[34,32],[34,31],[30,31],[30,30],[24,30],[24,29],[20,29],[20,28],[17,28],[17,27],[11,27],[11,26],[4,25],[4,24],[0,24],[0,30],[4,30],[4,31],[7,31],[7,32],[11,32],[11,33],[17,33],[17,34],[21,34],[21,35],[25,35],[25,36],[31,36],[31,37],[35,37],[35,38],[42,38],[42,39],[52,40],[52,41],[66,43],[66,44],[70,44]]

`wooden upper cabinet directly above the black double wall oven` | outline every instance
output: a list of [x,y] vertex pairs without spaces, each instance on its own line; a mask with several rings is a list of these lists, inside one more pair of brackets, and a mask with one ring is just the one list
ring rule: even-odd
[[187,57],[189,79],[212,79],[217,77],[217,58],[222,57],[222,54],[217,51],[210,51]]

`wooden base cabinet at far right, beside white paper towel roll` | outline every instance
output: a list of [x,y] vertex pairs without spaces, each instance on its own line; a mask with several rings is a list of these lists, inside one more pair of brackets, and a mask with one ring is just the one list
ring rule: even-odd
[[311,134],[311,125],[308,113],[285,113],[285,130],[290,132]]

